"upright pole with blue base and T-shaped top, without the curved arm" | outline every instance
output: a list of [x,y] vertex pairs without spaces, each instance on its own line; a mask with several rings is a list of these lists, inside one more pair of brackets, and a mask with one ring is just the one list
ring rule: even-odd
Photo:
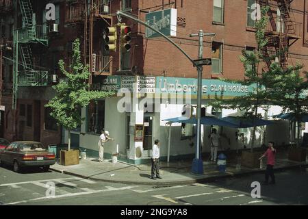
[[[203,30],[199,30],[198,34],[190,34],[190,37],[199,37],[198,59],[203,59],[203,36],[215,36],[216,34],[205,34]],[[196,136],[196,157],[192,162],[192,173],[203,174],[203,161],[201,159],[201,98],[202,98],[202,71],[203,67],[200,65],[198,70],[198,91],[197,91],[197,136]]]

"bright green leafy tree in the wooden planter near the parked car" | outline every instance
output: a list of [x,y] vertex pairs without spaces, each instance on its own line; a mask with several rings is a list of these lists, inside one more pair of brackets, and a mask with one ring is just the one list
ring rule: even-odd
[[86,107],[92,99],[105,98],[112,95],[112,92],[92,91],[86,82],[90,76],[89,66],[81,63],[79,51],[80,42],[76,39],[73,43],[73,60],[71,72],[64,68],[64,61],[59,61],[61,72],[66,79],[53,86],[56,94],[53,99],[45,105],[51,108],[51,116],[68,130],[68,151],[70,150],[70,130],[76,129],[84,118],[81,118],[80,110]]

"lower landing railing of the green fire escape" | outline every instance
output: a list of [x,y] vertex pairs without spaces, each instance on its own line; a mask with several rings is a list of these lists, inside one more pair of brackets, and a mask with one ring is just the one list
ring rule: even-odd
[[47,70],[23,70],[18,72],[18,86],[47,86],[48,85]]

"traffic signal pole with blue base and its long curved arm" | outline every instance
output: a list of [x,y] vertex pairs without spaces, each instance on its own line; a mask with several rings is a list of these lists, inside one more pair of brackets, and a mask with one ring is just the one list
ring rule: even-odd
[[[202,72],[203,72],[203,67],[201,65],[196,64],[192,58],[181,49],[175,42],[173,42],[168,36],[164,35],[162,32],[158,31],[157,29],[151,27],[147,23],[144,23],[143,21],[140,21],[138,18],[135,18],[129,14],[126,14],[125,12],[118,11],[116,12],[118,15],[118,19],[120,20],[119,16],[125,16],[126,18],[130,18],[133,21],[136,21],[137,23],[140,23],[144,25],[145,27],[148,27],[149,29],[152,29],[155,31],[157,34],[160,36],[164,37],[166,40],[168,40],[171,44],[173,44],[181,53],[183,53],[190,62],[194,66],[196,66],[198,70],[198,94],[197,94],[197,136],[196,136],[196,157],[194,158],[192,162],[192,173],[194,174],[203,174],[203,161],[201,159],[201,98],[202,98]],[[205,34],[203,30],[200,30],[198,34],[190,34],[190,37],[198,36],[198,58],[202,59],[203,58],[203,36],[215,36],[216,34],[211,33],[211,34]]]

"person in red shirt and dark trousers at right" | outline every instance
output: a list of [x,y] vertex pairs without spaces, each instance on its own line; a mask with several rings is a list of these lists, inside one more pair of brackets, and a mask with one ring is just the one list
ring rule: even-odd
[[275,176],[274,176],[274,164],[275,164],[275,155],[276,155],[276,149],[274,149],[274,142],[268,142],[268,150],[264,155],[262,155],[259,159],[262,159],[263,157],[268,158],[267,166],[266,166],[266,181],[264,182],[264,185],[268,185],[268,178],[272,179],[270,181],[270,184],[275,183]]

